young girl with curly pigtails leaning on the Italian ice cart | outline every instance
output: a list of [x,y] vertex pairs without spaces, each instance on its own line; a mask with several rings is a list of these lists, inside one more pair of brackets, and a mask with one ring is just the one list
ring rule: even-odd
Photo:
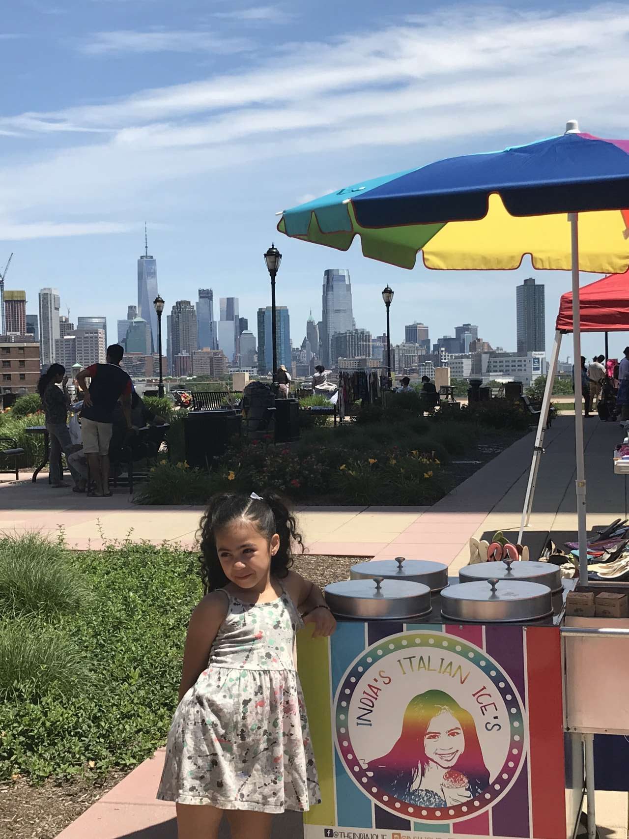
[[321,591],[289,571],[295,520],[273,492],[218,495],[201,520],[205,595],[190,618],[179,706],[158,798],[177,802],[179,839],[267,839],[273,813],[320,801],[297,630],[328,636]]

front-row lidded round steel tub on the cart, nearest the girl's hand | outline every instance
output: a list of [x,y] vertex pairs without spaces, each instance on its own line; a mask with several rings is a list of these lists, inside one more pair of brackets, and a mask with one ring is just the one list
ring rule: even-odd
[[418,582],[346,580],[325,586],[324,595],[337,618],[404,620],[430,612],[430,589]]

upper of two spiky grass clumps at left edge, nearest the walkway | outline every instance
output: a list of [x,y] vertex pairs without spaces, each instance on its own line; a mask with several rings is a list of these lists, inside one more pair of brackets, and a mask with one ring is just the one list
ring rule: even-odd
[[0,539],[0,616],[72,613],[87,599],[83,576],[59,544],[36,533]]

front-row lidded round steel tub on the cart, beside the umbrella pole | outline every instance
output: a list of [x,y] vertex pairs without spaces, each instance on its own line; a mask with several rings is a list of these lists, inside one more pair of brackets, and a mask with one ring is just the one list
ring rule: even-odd
[[520,623],[553,614],[553,594],[537,582],[481,580],[441,592],[441,614],[455,621]]

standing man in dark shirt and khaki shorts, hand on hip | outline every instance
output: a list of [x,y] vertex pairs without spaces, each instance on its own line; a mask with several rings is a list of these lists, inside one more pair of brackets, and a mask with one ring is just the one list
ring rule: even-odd
[[[84,392],[81,439],[94,482],[94,489],[89,494],[96,498],[112,495],[109,491],[109,443],[118,400],[122,404],[127,428],[131,429],[132,384],[128,374],[120,367],[123,354],[120,344],[112,344],[107,347],[107,364],[92,364],[76,377],[76,383]],[[91,379],[89,390],[87,378]]]

